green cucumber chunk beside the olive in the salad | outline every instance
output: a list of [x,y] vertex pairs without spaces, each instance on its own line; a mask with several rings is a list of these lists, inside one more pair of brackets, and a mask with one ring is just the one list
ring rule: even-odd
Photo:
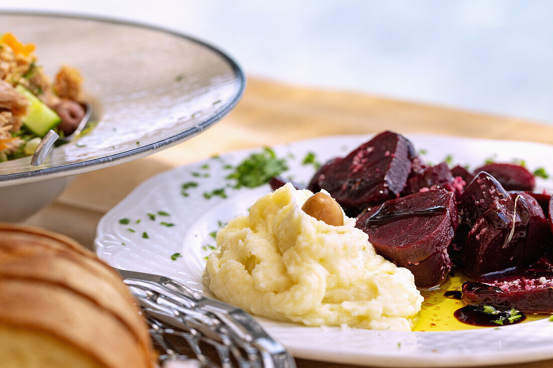
[[15,87],[17,92],[23,94],[30,102],[27,115],[23,118],[23,124],[34,134],[43,137],[50,129],[54,129],[61,123],[61,118],[27,88],[22,85]]

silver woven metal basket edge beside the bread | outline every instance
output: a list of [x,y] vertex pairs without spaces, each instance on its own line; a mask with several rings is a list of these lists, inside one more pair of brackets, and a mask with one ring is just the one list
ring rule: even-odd
[[201,343],[215,348],[220,365],[295,368],[293,357],[242,309],[202,296],[169,277],[116,269],[137,298],[150,334],[163,348],[161,361],[185,359],[173,339],[184,339],[203,365],[212,359]]

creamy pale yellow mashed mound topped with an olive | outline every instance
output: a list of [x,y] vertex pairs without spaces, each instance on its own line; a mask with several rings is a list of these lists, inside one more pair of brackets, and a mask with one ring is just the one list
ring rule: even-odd
[[205,285],[258,316],[411,330],[422,303],[413,274],[377,255],[355,219],[335,227],[301,211],[312,194],[288,183],[231,220],[217,233]]

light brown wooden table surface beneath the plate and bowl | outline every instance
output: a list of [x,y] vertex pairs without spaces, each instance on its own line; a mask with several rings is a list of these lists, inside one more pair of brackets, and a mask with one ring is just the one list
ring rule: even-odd
[[[520,119],[250,78],[242,101],[215,127],[143,159],[77,176],[55,203],[27,222],[69,235],[92,248],[102,215],[159,172],[229,150],[387,129],[406,135],[429,133],[553,144],[553,127]],[[298,366],[343,365],[298,360]],[[515,366],[553,368],[553,360]]]

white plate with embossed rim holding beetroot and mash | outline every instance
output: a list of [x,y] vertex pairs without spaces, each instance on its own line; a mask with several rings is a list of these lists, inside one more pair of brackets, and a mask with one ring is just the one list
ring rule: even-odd
[[[288,157],[284,176],[305,183],[314,173],[302,165],[308,151],[323,162],[343,156],[370,136],[333,136],[299,141],[275,148]],[[425,149],[427,161],[440,162],[447,155],[472,169],[494,155],[497,161],[524,159],[530,169],[553,172],[553,146],[518,141],[493,141],[445,136],[411,135],[415,147]],[[204,257],[215,240],[210,235],[237,214],[246,213],[256,198],[270,191],[265,185],[253,190],[226,187],[225,165],[236,165],[257,150],[238,151],[182,166],[145,181],[109,211],[98,224],[96,252],[108,264],[127,270],[174,277],[211,296],[201,284]],[[291,158],[294,157],[294,158]],[[181,194],[182,184],[197,182]],[[553,188],[552,180],[538,179],[539,189]],[[228,198],[205,192],[225,188]],[[157,214],[158,211],[169,215]],[[155,220],[148,213],[156,214]],[[130,219],[129,224],[119,219]],[[137,223],[137,220],[140,220]],[[174,224],[172,227],[161,222]],[[134,230],[134,233],[128,229]],[[148,239],[143,234],[147,234]],[[171,255],[183,256],[176,261]],[[265,329],[297,358],[373,366],[469,366],[508,364],[553,358],[553,322],[509,325],[500,328],[450,332],[385,332],[351,328],[312,328],[258,318]]]

